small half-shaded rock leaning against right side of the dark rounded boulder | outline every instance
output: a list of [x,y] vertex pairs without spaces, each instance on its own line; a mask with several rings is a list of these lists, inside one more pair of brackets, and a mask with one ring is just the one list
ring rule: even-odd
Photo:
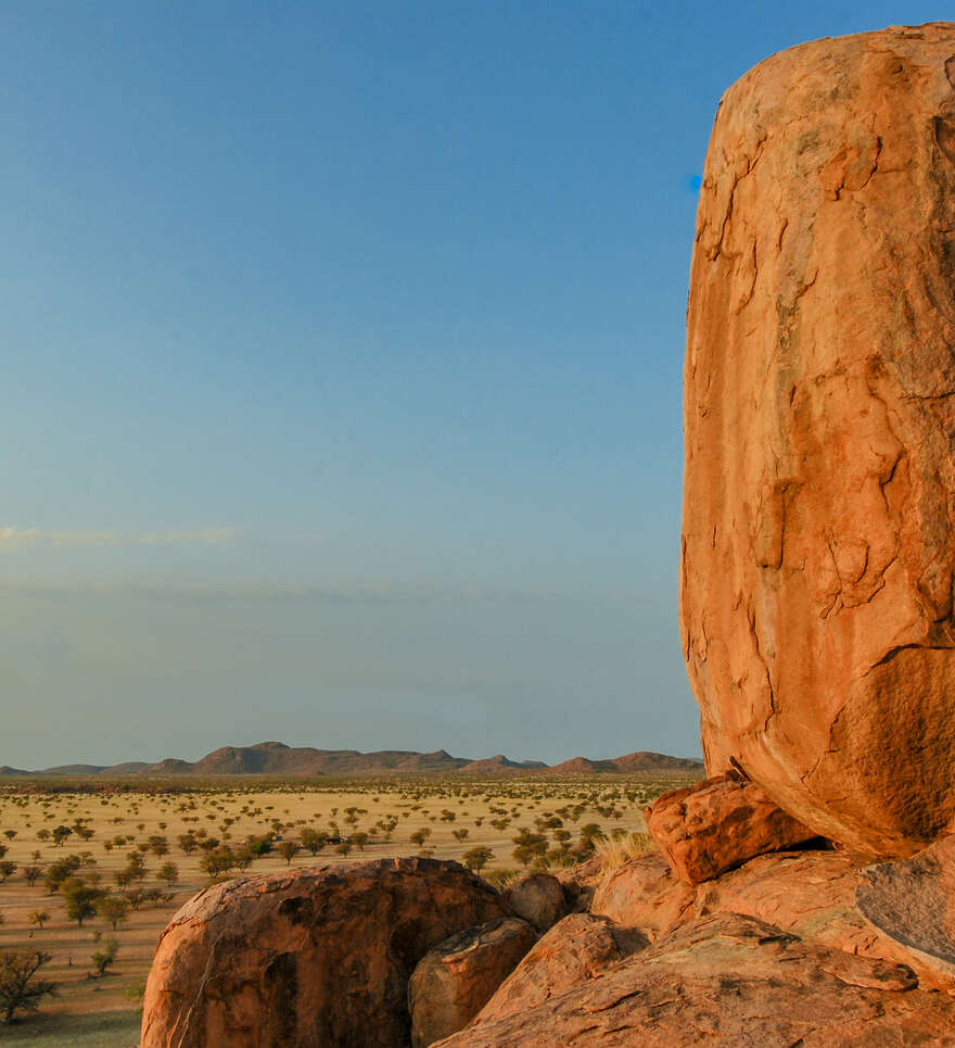
[[505,918],[429,950],[408,983],[411,1048],[428,1048],[467,1026],[536,938],[525,921]]

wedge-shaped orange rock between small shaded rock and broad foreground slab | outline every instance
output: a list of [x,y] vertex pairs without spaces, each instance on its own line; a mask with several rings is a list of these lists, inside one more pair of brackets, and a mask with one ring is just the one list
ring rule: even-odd
[[606,972],[648,945],[635,929],[606,917],[571,913],[542,938],[500,984],[474,1019],[494,1022],[526,1011]]

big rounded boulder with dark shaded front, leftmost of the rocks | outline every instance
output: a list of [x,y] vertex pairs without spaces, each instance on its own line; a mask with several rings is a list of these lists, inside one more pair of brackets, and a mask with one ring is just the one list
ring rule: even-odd
[[436,859],[218,884],[160,938],[142,1048],[405,1048],[415,965],[456,932],[507,916],[491,885]]

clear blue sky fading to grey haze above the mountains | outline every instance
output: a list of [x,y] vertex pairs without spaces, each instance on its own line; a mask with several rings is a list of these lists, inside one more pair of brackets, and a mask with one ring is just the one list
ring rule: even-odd
[[721,93],[938,4],[0,10],[0,765],[699,754]]

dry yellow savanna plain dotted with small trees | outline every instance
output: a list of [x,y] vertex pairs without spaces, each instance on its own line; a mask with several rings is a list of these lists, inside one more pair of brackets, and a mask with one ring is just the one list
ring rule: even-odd
[[[157,936],[212,875],[428,854],[471,866],[483,859],[482,874],[500,880],[524,864],[572,863],[591,846],[601,847],[601,839],[642,831],[644,806],[686,781],[624,775],[5,781],[0,949],[50,954],[40,974],[58,993],[43,1000],[38,1014],[0,1025],[0,1044],[136,1045],[139,998]],[[309,838],[310,847],[304,847]],[[524,850],[515,857],[518,843]],[[263,848],[268,850],[255,854]],[[64,859],[75,867],[66,871],[75,880],[58,887]],[[115,930],[96,900],[99,912],[81,924],[71,918],[69,888],[78,882],[91,894],[119,900],[113,906],[114,918],[119,913]],[[111,938],[115,960],[99,976],[92,955]]]

